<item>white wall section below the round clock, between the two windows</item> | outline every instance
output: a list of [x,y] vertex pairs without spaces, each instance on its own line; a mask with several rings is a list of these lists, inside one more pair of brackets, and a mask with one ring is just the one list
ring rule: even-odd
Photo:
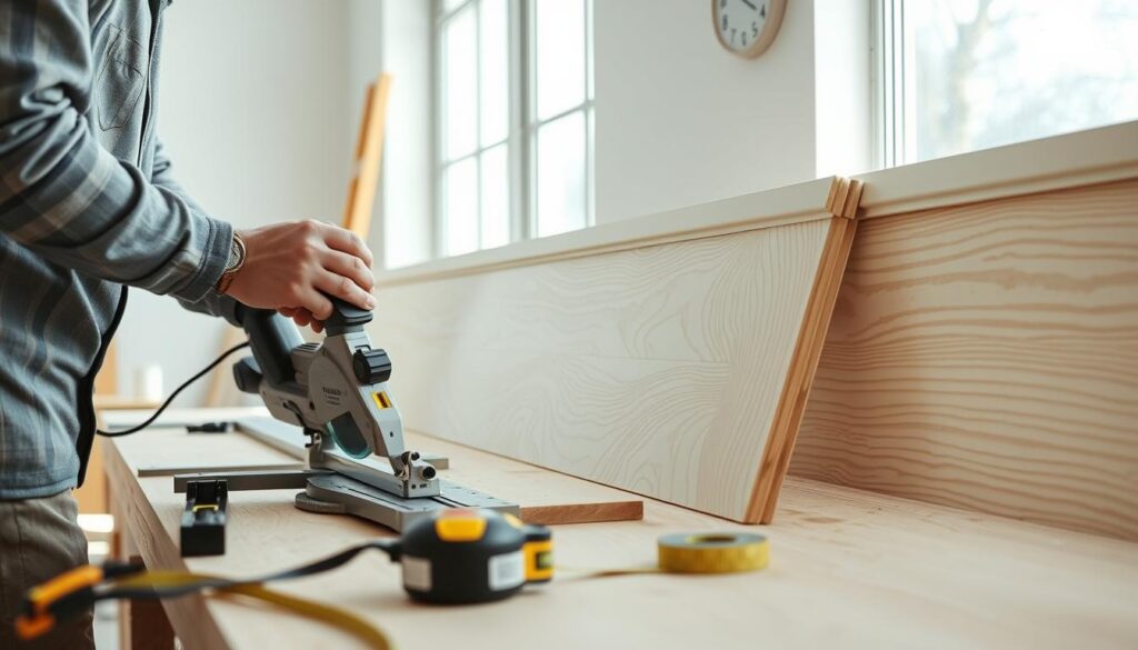
[[756,59],[719,46],[707,1],[594,7],[597,223],[815,178],[813,2]]

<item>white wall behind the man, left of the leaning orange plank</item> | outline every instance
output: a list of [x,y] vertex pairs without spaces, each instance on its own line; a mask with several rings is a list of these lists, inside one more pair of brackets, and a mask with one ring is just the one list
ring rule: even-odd
[[[238,228],[339,222],[358,113],[343,74],[346,3],[182,0],[165,20],[158,124],[182,184]],[[217,355],[222,328],[132,290],[116,337],[121,389],[132,394],[137,370],[157,363],[168,393]]]

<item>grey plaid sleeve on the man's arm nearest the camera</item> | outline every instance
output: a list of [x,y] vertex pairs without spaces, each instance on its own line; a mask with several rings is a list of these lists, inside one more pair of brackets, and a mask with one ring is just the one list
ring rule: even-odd
[[5,5],[0,232],[86,275],[191,303],[211,294],[231,227],[112,156],[73,101],[92,79],[86,2]]

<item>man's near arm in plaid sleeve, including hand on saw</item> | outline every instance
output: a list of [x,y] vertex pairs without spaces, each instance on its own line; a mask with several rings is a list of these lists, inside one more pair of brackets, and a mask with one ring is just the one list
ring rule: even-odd
[[[92,82],[82,0],[0,3],[0,233],[84,274],[197,302],[216,285],[229,224],[122,163],[74,100]],[[324,294],[370,308],[371,253],[314,222],[242,233],[230,295],[264,308],[331,313]]]

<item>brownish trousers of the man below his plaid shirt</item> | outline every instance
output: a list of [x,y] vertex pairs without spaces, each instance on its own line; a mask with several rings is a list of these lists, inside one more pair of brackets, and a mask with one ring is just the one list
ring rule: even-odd
[[0,501],[0,648],[94,648],[91,610],[33,642],[20,641],[15,630],[28,589],[86,563],[86,540],[77,515],[71,491],[43,499]]

